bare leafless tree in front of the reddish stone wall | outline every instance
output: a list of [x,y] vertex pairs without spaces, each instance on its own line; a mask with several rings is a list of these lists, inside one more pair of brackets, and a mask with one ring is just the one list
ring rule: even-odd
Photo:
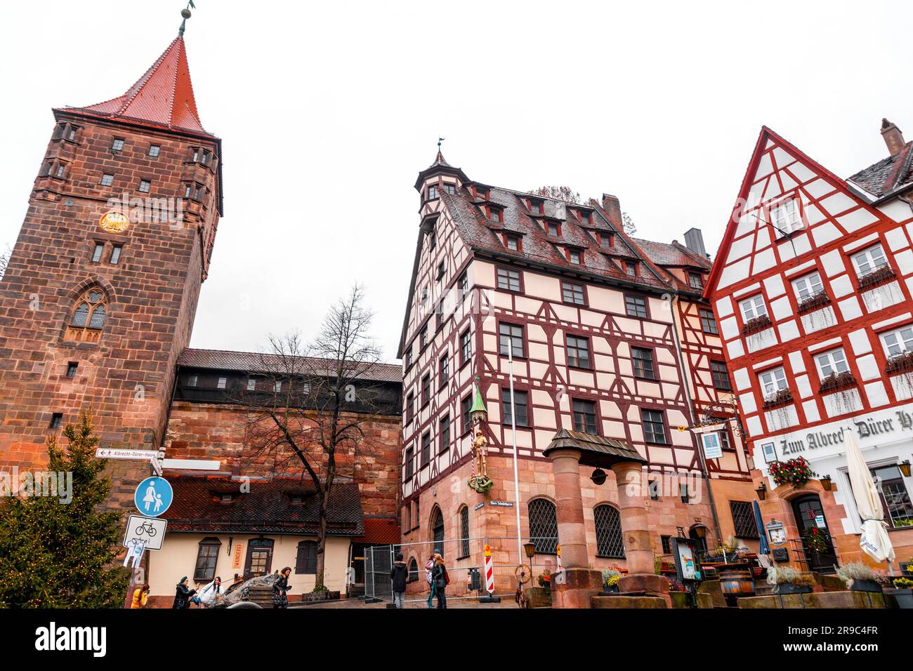
[[[231,392],[248,408],[246,461],[274,473],[299,467],[310,477],[318,508],[315,591],[324,591],[327,510],[345,464],[372,452],[365,431],[384,402],[375,367],[380,351],[370,337],[373,313],[355,286],[332,306],[317,338],[305,345],[297,333],[269,338],[253,385]],[[253,388],[250,388],[253,386]],[[302,474],[302,477],[304,475]]]

